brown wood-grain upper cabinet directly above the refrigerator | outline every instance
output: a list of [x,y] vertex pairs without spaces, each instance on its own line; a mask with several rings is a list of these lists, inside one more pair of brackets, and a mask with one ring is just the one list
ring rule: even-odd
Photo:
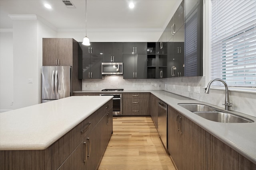
[[72,38],[43,38],[43,66],[72,66]]

